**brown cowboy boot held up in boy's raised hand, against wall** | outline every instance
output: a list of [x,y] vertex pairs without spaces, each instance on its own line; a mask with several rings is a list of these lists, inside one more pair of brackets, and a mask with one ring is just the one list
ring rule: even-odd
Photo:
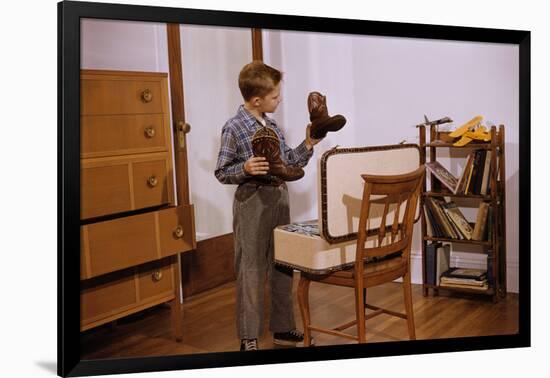
[[346,124],[346,118],[341,114],[329,117],[327,98],[319,92],[311,92],[307,96],[307,108],[311,121],[309,135],[314,139],[324,138],[327,132],[338,131]]

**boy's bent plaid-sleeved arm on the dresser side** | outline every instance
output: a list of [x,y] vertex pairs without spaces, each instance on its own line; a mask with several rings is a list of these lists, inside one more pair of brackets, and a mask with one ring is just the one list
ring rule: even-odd
[[214,174],[222,184],[241,184],[248,174],[244,170],[244,161],[237,159],[237,142],[229,128],[223,128],[220,152]]

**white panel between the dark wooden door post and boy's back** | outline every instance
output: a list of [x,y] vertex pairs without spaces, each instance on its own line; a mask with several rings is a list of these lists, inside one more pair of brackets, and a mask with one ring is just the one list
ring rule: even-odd
[[197,240],[233,232],[235,185],[214,176],[221,130],[235,115],[242,97],[241,68],[252,60],[251,31],[246,28],[181,25],[189,186],[195,205]]

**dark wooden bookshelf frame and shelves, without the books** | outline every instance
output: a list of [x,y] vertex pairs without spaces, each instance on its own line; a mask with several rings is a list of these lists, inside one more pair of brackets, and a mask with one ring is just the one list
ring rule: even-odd
[[[426,159],[429,157],[430,162],[437,161],[437,151],[440,148],[453,148],[453,149],[468,149],[468,150],[490,150],[491,151],[491,171],[489,172],[489,180],[491,191],[487,195],[481,194],[453,194],[444,188],[439,180],[426,171],[426,178],[424,179],[422,195],[420,197],[421,212],[421,232],[422,232],[422,287],[423,294],[427,296],[429,290],[433,290],[434,295],[439,293],[439,290],[446,290],[451,292],[464,292],[471,294],[479,294],[485,296],[492,296],[493,301],[498,301],[499,297],[506,295],[506,193],[505,193],[505,163],[504,163],[504,126],[500,125],[497,129],[496,126],[491,127],[491,141],[490,142],[470,142],[469,144],[458,147],[453,146],[449,141],[448,132],[438,132],[436,126],[429,126],[429,130],[426,130],[426,126],[418,126],[420,133],[420,159],[421,163],[426,163]],[[429,132],[428,138],[426,138],[426,132]],[[453,159],[452,157],[450,159]],[[430,187],[428,189],[428,178]],[[493,218],[492,222],[487,224],[487,227],[491,228],[490,240],[466,240],[466,239],[453,239],[445,237],[429,236],[427,233],[428,227],[426,214],[424,212],[424,204],[428,197],[450,197],[450,198],[468,198],[478,202],[485,201],[489,203],[489,207],[492,209]],[[426,268],[426,248],[428,243],[444,242],[444,243],[462,243],[475,245],[479,248],[479,251],[468,251],[468,253],[479,252],[486,254],[492,258],[492,272],[487,272],[491,277],[489,281],[489,288],[487,290],[476,290],[462,287],[449,287],[441,285],[427,284],[427,268]],[[439,282],[439,277],[436,277],[436,281]]]

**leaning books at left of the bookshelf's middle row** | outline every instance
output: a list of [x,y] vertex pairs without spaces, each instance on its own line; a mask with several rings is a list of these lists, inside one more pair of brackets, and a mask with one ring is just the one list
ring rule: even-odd
[[428,235],[436,238],[471,240],[474,229],[456,203],[435,197],[426,197],[424,212]]

